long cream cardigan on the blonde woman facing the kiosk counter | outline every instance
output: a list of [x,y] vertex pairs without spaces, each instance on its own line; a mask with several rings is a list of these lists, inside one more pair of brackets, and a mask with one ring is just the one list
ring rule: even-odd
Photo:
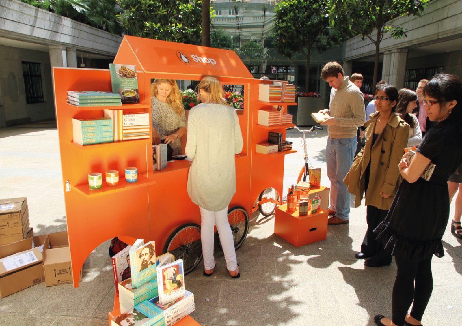
[[226,105],[201,103],[189,111],[185,153],[193,159],[188,195],[196,205],[221,211],[236,193],[235,154],[243,148],[236,111]]

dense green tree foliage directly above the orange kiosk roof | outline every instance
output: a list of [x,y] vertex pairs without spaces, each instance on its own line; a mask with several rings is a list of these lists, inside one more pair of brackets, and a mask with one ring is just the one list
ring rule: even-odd
[[128,35],[201,44],[200,0],[121,0],[119,5],[123,8],[119,17]]

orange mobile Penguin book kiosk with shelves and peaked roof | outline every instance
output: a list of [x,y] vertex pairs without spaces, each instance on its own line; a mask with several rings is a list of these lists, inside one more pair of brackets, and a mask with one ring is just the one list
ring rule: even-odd
[[[125,113],[151,115],[152,79],[201,80],[215,76],[223,85],[243,85],[244,108],[237,110],[243,135],[243,151],[236,156],[236,194],[229,207],[240,205],[250,214],[255,199],[266,188],[282,193],[284,155],[255,152],[257,143],[266,142],[268,131],[286,136],[286,127],[258,125],[258,109],[271,109],[295,103],[258,101],[258,85],[271,83],[254,79],[234,51],[206,48],[124,36],[114,60],[116,64],[135,65],[140,103],[110,107],[75,107],[66,103],[67,91],[112,91],[109,70],[53,68],[56,119],[58,124],[61,169],[71,251],[74,287],[80,270],[91,251],[115,236],[143,238],[164,244],[174,229],[185,223],[200,224],[200,212],[187,193],[190,163],[168,163],[162,171],[153,170],[151,138],[95,145],[73,143],[72,118],[102,117],[103,109],[123,109]],[[152,135],[150,131],[150,135]],[[182,137],[182,145],[186,137]],[[88,173],[138,168],[138,182],[108,187],[103,180],[99,190],[89,190]],[[130,239],[130,238],[128,238]],[[160,254],[158,249],[156,254]]]

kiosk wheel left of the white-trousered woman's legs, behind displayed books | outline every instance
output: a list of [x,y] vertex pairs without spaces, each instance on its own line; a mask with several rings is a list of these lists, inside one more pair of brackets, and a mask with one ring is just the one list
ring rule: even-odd
[[165,242],[163,253],[167,252],[183,260],[184,274],[192,272],[202,259],[201,227],[186,223],[176,228]]

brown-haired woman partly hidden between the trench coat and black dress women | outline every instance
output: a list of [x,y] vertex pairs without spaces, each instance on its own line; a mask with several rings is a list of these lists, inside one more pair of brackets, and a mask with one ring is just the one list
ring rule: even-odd
[[407,88],[401,89],[398,94],[398,105],[396,105],[396,113],[400,115],[401,119],[406,121],[409,125],[409,140],[407,147],[419,146],[422,141],[422,132],[419,127],[419,120],[412,111],[417,108],[417,93]]

